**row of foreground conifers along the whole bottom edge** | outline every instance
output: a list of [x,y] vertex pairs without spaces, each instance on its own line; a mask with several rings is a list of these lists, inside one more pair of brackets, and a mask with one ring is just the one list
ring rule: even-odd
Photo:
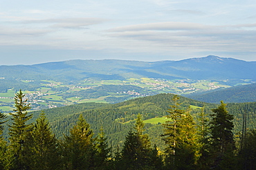
[[[15,110],[10,113],[8,141],[3,138],[7,115],[0,113],[0,169],[255,169],[256,131],[246,130],[241,139],[232,133],[233,115],[221,101],[209,116],[202,107],[194,120],[191,108],[181,108],[174,95],[167,108],[170,121],[163,124],[159,138],[165,149],[151,144],[138,114],[122,146],[107,142],[104,127],[98,135],[80,114],[68,135],[57,139],[42,111],[35,122],[28,113],[30,104],[19,91]],[[244,117],[246,120],[246,117]],[[239,138],[238,138],[239,139]]]

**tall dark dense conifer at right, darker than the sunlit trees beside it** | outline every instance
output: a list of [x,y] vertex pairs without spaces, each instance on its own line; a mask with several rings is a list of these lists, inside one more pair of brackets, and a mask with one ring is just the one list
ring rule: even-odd
[[210,121],[211,168],[233,169],[233,167],[226,167],[226,162],[232,165],[232,158],[234,157],[235,142],[232,133],[234,116],[228,113],[223,101],[218,108],[212,109],[212,112],[212,120]]

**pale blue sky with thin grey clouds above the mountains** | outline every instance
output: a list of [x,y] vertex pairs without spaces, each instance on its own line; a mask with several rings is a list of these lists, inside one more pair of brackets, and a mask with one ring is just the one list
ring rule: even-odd
[[208,55],[256,61],[255,0],[0,0],[0,65]]

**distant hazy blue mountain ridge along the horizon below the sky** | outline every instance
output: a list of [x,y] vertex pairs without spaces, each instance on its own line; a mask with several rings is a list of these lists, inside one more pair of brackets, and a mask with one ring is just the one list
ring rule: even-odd
[[[237,69],[239,68],[239,69]],[[1,77],[9,80],[127,79],[256,79],[256,62],[213,55],[181,61],[138,62],[115,59],[70,60],[31,66],[0,66]]]

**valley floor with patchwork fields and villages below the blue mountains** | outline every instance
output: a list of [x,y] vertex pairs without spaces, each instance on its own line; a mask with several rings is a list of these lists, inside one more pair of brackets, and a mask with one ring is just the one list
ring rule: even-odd
[[[4,79],[0,79],[0,82]],[[35,86],[35,80],[20,80],[28,86]],[[237,80],[236,84],[250,84],[250,80]],[[234,81],[226,80],[192,80],[192,79],[155,79],[141,77],[125,80],[93,80],[80,82],[60,82],[41,80],[35,89],[22,89],[26,93],[32,111],[55,108],[86,102],[117,103],[134,97],[145,97],[159,93],[179,95],[212,91],[218,88],[233,86]],[[14,106],[15,88],[0,93],[0,111],[11,112]]]

